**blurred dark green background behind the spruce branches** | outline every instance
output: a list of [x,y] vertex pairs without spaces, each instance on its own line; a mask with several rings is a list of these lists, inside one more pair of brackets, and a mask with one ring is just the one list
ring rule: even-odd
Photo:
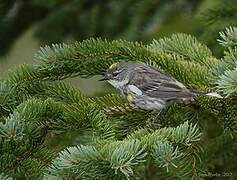
[[[19,64],[34,63],[40,46],[90,37],[149,43],[183,32],[220,56],[218,32],[235,25],[236,4],[236,0],[1,0],[0,76]],[[97,79],[67,81],[93,95],[105,85]]]

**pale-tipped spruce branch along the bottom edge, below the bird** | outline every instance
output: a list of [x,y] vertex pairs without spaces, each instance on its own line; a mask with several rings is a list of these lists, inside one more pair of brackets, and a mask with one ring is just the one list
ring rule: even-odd
[[[139,131],[135,132],[137,133]],[[176,133],[179,134],[178,137]],[[193,144],[199,141],[201,135],[196,126],[187,122],[177,128],[164,128],[148,133],[145,137],[140,136],[140,140],[132,138],[135,134],[123,141],[107,143],[102,147],[77,146],[64,150],[48,168],[45,179],[68,178],[69,176],[85,179],[95,177],[108,179],[112,176],[129,178],[134,176],[135,168],[143,167],[148,154],[154,157],[154,161],[159,166],[166,168],[171,163],[177,169],[183,162],[177,165],[173,162],[176,162],[176,159],[181,161],[183,155],[177,154],[179,145],[173,149],[175,144],[171,145],[169,141],[170,143],[188,141]],[[191,144],[186,145],[189,147]],[[189,175],[186,174],[186,177]]]

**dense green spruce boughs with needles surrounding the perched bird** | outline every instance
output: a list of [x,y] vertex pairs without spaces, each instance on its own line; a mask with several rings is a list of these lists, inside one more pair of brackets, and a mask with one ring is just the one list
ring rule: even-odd
[[[41,48],[36,65],[0,80],[1,179],[204,179],[220,167],[236,177],[237,28],[220,35],[222,59],[186,34],[150,45],[89,39]],[[173,104],[157,119],[119,94],[87,97],[60,82],[100,75],[123,60],[160,67],[189,88],[226,98]],[[50,146],[67,133],[74,134],[70,142]]]

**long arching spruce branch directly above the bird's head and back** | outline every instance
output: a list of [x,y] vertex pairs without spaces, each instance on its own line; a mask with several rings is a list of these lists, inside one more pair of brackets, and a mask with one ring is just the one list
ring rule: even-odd
[[[206,85],[210,84],[208,68],[187,62],[180,56],[126,41],[90,39],[72,45],[47,46],[41,49],[36,59],[41,61],[37,69],[42,78],[46,79],[100,75],[110,64],[127,60],[156,62],[162,69],[193,88],[208,89]],[[214,59],[208,58],[208,61],[211,60]]]

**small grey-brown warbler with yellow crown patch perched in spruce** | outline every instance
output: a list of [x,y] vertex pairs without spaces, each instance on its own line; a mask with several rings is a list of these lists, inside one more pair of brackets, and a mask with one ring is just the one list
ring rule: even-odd
[[172,102],[190,101],[200,95],[222,98],[216,92],[190,90],[163,70],[142,63],[114,63],[104,73],[101,81],[104,80],[126,95],[129,102],[145,110],[162,110]]

